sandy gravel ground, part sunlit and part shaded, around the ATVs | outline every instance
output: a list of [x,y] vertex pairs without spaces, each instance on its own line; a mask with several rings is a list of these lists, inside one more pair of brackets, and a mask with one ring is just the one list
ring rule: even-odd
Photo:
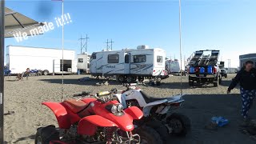
[[[90,82],[78,82],[78,78],[87,75],[66,75],[64,93],[66,97],[78,94],[81,91],[110,90],[111,88],[124,89],[120,84],[110,81],[110,86],[95,86],[99,80]],[[14,111],[14,114],[6,114],[5,118],[5,141],[6,143],[34,143],[34,134],[40,126],[50,124],[57,125],[54,114],[42,106],[41,102],[61,101],[62,76],[31,77],[28,81],[15,82],[14,77],[5,79],[5,112]],[[232,94],[226,94],[230,79],[223,78],[222,85],[212,86],[188,86],[188,79],[182,78],[183,93],[186,102],[178,110],[186,114],[192,123],[192,130],[186,138],[170,138],[168,143],[187,144],[240,144],[255,143],[248,135],[238,130],[240,120],[241,98],[239,90],[235,89]],[[180,78],[173,76],[162,81],[161,86],[141,86],[142,90],[158,97],[166,97],[180,93]],[[255,106],[250,110],[251,117],[256,118]],[[224,116],[230,120],[228,126],[216,131],[206,130],[204,126],[210,122],[213,116]]]

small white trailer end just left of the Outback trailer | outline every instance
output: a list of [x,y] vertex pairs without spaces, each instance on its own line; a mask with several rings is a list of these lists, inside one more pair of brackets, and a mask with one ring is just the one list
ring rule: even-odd
[[78,54],[78,70],[80,73],[90,73],[90,55],[89,54]]

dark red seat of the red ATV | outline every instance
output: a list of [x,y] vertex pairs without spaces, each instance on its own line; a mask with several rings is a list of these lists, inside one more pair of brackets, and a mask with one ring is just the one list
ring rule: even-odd
[[86,109],[89,106],[89,103],[82,102],[81,100],[68,99],[63,102],[65,106],[71,110],[73,113],[77,114],[80,111]]

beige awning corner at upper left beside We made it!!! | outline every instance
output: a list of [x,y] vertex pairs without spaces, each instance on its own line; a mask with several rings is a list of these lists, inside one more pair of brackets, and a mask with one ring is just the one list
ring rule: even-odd
[[45,24],[45,22],[37,22],[34,19],[28,18],[23,14],[5,7],[5,38],[14,37],[13,34],[18,31],[26,32],[29,36],[30,30],[34,28],[38,29],[39,26]]

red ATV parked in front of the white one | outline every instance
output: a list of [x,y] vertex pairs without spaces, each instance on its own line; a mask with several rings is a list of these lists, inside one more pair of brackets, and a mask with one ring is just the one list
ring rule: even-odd
[[42,105],[54,112],[59,129],[53,125],[38,128],[35,144],[162,143],[160,135],[150,127],[134,129],[133,121],[142,118],[142,110],[136,106],[123,110],[110,95]]

